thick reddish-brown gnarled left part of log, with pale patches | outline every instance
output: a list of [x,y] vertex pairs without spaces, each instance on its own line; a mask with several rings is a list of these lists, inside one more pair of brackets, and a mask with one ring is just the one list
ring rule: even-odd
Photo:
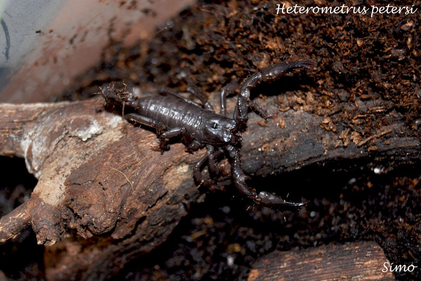
[[49,278],[116,272],[165,241],[187,214],[185,198],[199,195],[191,167],[201,152],[152,151],[156,135],[104,111],[103,100],[1,104],[0,114],[0,153],[23,156],[38,179],[30,199],[0,220],[0,241],[26,226],[39,244],[69,237],[47,251],[69,253],[46,259]]

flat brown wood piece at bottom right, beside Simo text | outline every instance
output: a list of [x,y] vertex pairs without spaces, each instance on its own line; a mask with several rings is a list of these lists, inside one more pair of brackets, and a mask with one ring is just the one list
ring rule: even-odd
[[249,281],[394,280],[392,272],[381,271],[385,262],[383,250],[373,241],[274,251],[253,265]]

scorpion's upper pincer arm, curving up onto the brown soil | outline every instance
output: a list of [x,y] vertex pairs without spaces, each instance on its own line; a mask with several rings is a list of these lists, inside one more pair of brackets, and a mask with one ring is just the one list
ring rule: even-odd
[[247,123],[248,107],[250,101],[250,90],[256,87],[261,82],[270,82],[283,76],[287,71],[294,68],[311,68],[314,63],[309,61],[298,61],[292,63],[275,63],[271,66],[261,69],[261,71],[253,74],[244,81],[240,88],[240,95],[238,96],[238,102],[235,106],[234,119],[239,123],[240,126]]

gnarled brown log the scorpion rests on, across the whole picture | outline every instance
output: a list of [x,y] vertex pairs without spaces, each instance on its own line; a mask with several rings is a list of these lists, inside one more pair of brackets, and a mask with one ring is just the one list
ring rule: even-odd
[[[342,164],[343,159],[371,162],[393,156],[395,164],[418,159],[419,139],[401,134],[404,125],[398,117],[382,128],[385,133],[366,136],[366,144],[345,145],[349,130],[335,128],[345,132],[338,136],[326,129],[323,116],[280,113],[275,100],[260,103],[278,116],[262,126],[262,119],[252,114],[243,134],[242,162],[249,174]],[[162,243],[186,214],[186,204],[200,194],[192,165],[203,151],[187,153],[181,143],[172,144],[163,155],[152,151],[155,133],[105,111],[101,99],[1,104],[0,115],[0,154],[24,157],[38,179],[30,199],[0,220],[0,241],[26,226],[32,226],[40,244],[62,240],[48,248],[68,251],[61,260],[47,258],[49,278],[69,278],[77,272],[104,277],[119,270]],[[372,145],[376,150],[368,149]],[[229,165],[225,169],[229,173]],[[75,232],[90,242],[76,238]]]

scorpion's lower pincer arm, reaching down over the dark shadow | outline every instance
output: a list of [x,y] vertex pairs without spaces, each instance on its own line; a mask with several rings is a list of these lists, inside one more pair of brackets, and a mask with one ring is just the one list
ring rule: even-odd
[[254,188],[249,187],[245,183],[245,175],[241,168],[241,160],[240,160],[240,154],[239,154],[238,149],[236,149],[233,146],[227,146],[227,151],[231,158],[231,170],[232,170],[232,177],[234,178],[235,186],[245,196],[254,200],[258,204],[266,205],[269,207],[273,207],[273,206],[302,207],[305,204],[307,204],[307,202],[290,202],[274,193],[267,192],[267,191],[261,191],[257,193]]

